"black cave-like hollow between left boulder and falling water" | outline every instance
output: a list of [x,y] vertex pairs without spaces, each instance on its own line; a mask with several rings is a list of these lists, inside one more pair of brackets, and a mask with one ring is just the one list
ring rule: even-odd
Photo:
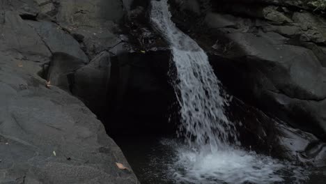
[[[178,111],[168,76],[169,53],[127,53],[111,57],[106,106],[95,112],[114,139],[173,135]],[[177,115],[176,115],[177,116]]]

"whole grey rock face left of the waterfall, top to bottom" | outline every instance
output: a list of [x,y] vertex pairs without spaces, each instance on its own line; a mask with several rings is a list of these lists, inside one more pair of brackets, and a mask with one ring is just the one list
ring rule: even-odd
[[[138,183],[132,169],[116,166],[130,168],[102,123],[67,92],[74,73],[89,70],[97,80],[96,69],[109,68],[102,59],[108,55],[89,60],[120,40],[107,29],[105,38],[93,30],[114,30],[123,15],[114,0],[1,1],[0,183]],[[93,49],[95,38],[107,40]],[[43,68],[48,82],[38,75]]]

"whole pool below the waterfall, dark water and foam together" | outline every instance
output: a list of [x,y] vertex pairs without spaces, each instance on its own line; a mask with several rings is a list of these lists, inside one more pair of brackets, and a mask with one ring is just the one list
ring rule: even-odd
[[173,137],[118,137],[116,142],[141,184],[326,183],[325,167],[300,167],[255,153],[220,153],[194,161],[194,153]]

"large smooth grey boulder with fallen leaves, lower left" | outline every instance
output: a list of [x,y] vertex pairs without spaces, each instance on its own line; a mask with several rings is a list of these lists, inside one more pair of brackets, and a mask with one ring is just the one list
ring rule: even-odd
[[0,183],[137,183],[123,153],[77,98],[0,54]]

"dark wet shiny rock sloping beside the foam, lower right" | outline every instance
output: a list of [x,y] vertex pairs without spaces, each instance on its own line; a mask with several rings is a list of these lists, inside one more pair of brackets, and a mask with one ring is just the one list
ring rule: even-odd
[[291,128],[278,118],[233,98],[228,116],[237,125],[242,146],[274,158],[326,166],[326,144],[314,135]]

